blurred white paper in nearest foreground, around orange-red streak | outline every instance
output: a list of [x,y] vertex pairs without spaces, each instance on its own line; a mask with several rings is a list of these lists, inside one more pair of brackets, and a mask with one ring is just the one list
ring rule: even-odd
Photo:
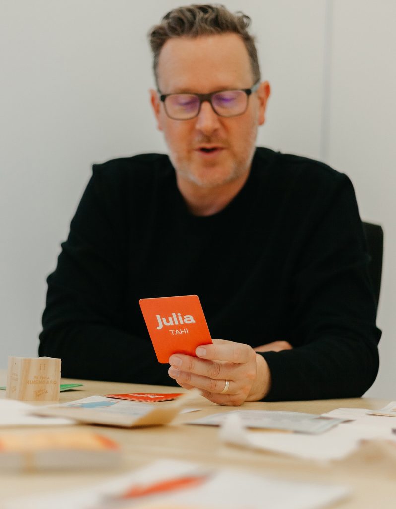
[[[174,477],[208,474],[200,485],[139,497],[114,505],[117,509],[161,505],[195,509],[315,509],[346,497],[345,486],[289,482],[236,470],[203,469],[197,464],[160,460],[137,472],[78,491],[29,496],[8,500],[4,509],[110,509],[111,497],[136,485],[147,485]],[[133,503],[135,502],[135,504]],[[147,505],[146,505],[147,504]],[[153,505],[151,505],[153,504]]]

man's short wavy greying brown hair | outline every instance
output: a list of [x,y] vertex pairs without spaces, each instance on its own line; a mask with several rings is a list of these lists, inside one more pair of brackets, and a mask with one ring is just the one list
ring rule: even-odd
[[248,32],[250,17],[242,12],[232,14],[223,5],[190,5],[169,11],[149,34],[154,54],[154,75],[158,87],[158,61],[163,45],[176,37],[200,37],[216,34],[237,34],[245,44],[254,82],[260,79],[260,67],[254,37]]

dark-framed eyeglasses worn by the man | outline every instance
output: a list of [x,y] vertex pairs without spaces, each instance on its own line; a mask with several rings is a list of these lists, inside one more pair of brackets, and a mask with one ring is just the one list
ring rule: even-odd
[[190,120],[199,115],[201,105],[208,101],[220,117],[236,117],[248,108],[249,96],[256,92],[259,81],[251,89],[221,90],[211,94],[165,94],[160,96],[167,116],[173,120]]

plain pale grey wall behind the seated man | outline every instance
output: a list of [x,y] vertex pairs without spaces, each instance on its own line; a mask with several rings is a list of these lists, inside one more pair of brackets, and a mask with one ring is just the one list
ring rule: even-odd
[[[347,173],[385,231],[380,373],[395,398],[396,36],[393,0],[240,0],[272,86],[258,144]],[[36,356],[45,277],[93,162],[165,151],[146,33],[180,2],[0,0],[0,368]]]

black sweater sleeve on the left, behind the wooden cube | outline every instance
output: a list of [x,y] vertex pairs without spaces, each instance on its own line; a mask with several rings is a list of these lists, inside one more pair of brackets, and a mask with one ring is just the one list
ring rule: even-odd
[[125,326],[126,178],[108,166],[94,165],[47,279],[39,354],[60,358],[64,377],[172,385],[147,337]]

